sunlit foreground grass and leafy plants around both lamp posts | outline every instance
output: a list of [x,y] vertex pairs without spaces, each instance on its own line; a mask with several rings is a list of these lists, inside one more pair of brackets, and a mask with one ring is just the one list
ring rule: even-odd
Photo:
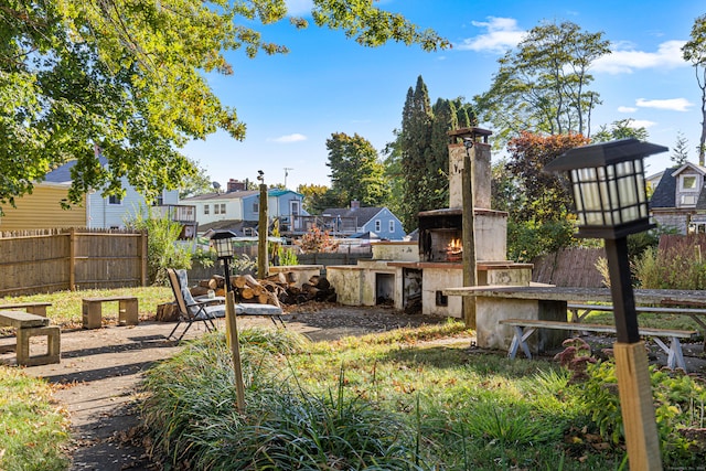
[[[205,336],[149,373],[152,452],[221,470],[627,469],[610,362],[574,383],[554,362],[473,351],[453,340],[463,329],[328,343],[243,332],[243,416],[224,336]],[[653,371],[653,387],[665,463],[703,462],[684,432],[704,426],[703,383]]]

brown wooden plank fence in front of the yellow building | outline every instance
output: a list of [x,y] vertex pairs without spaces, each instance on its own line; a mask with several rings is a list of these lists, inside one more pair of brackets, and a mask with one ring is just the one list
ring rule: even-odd
[[0,297],[147,285],[147,233],[0,233]]

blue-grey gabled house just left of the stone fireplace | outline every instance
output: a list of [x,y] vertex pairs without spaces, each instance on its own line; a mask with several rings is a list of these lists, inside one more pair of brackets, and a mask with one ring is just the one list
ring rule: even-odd
[[387,207],[361,207],[360,202],[352,201],[351,207],[331,207],[324,210],[321,215],[332,218],[334,225],[340,221],[353,221],[355,231],[350,237],[368,232],[387,240],[402,240],[405,237],[402,222]]

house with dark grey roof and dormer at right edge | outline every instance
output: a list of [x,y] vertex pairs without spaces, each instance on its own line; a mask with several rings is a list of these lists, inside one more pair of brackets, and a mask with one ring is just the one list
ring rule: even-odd
[[705,180],[706,167],[686,162],[666,169],[650,200],[654,222],[680,234],[705,233]]

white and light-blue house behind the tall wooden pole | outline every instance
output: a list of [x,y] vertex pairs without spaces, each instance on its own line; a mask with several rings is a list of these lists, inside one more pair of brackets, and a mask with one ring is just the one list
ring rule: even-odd
[[[291,233],[295,220],[308,215],[301,207],[302,200],[301,193],[269,189],[267,191],[268,222],[277,220],[280,233]],[[202,234],[208,229],[227,228],[240,236],[257,235],[256,227],[260,211],[259,190],[245,190],[245,185],[232,179],[225,193],[202,194],[184,199],[182,202],[195,207],[199,232]]]

